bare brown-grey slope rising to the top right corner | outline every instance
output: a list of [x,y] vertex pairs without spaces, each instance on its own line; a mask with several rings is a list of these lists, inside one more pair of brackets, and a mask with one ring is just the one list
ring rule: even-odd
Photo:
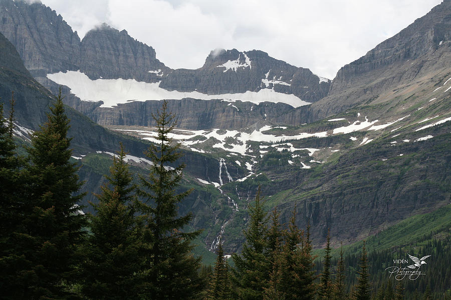
[[[312,122],[356,105],[393,101],[402,86],[421,82],[428,92],[451,73],[451,1],[444,0],[426,15],[359,59],[343,66],[327,97],[299,107],[280,120]],[[420,95],[421,91],[417,92]],[[387,111],[380,111],[380,115]]]

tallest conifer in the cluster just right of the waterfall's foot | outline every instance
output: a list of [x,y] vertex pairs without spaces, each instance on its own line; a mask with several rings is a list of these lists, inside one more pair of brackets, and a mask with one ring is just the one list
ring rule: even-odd
[[249,225],[244,231],[246,241],[241,255],[233,254],[234,281],[240,299],[262,299],[269,270],[265,257],[267,248],[267,213],[260,199],[260,186],[254,205],[249,206]]

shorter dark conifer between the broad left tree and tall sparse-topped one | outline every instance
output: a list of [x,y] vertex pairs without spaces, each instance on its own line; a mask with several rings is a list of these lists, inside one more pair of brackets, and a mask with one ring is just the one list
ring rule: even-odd
[[83,261],[82,292],[91,299],[136,299],[142,278],[140,222],[135,216],[132,175],[125,162],[122,143],[113,157],[108,184],[96,194],[90,215],[92,235],[81,250]]

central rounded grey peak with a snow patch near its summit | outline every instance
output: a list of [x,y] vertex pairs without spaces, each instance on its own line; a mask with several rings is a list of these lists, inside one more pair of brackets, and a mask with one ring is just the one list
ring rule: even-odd
[[163,77],[160,87],[207,94],[273,88],[315,102],[327,95],[329,84],[330,80],[320,79],[309,69],[275,59],[263,51],[216,49],[210,52],[201,68],[173,70]]

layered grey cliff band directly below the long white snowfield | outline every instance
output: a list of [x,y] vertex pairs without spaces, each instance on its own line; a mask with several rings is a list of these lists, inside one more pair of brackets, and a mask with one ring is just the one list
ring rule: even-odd
[[[184,98],[167,100],[168,108],[178,118],[177,127],[186,129],[231,129],[246,128],[256,123],[277,123],[275,115],[293,109],[285,103],[226,102],[221,100],[199,100]],[[150,100],[118,104],[114,109],[95,107],[85,111],[91,119],[101,125],[155,126],[152,113],[161,107],[161,102]],[[139,111],[139,113],[137,113]]]

